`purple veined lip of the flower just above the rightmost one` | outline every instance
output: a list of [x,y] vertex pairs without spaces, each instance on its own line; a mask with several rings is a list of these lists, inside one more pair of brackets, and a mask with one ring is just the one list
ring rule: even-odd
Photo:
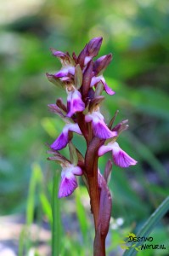
[[108,139],[117,135],[116,131],[110,131],[103,120],[93,121],[93,134],[101,139]]

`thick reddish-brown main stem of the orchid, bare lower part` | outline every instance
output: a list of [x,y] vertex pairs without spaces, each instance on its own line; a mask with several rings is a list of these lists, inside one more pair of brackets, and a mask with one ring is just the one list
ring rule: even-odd
[[[87,152],[84,161],[84,172],[87,177],[91,208],[94,218],[95,239],[94,256],[105,256],[105,237],[100,233],[100,191],[98,183],[98,149],[104,143],[99,137],[93,137],[91,124],[86,124],[84,115],[77,114],[77,122],[87,142]],[[91,130],[91,131],[90,131]]]

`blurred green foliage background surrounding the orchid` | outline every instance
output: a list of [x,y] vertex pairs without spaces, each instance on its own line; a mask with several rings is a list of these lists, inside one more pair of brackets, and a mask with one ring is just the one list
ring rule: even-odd
[[[60,68],[49,48],[78,54],[99,36],[99,56],[113,54],[104,77],[116,92],[104,94],[102,113],[107,122],[116,109],[116,124],[129,119],[118,142],[138,160],[128,169],[113,166],[108,255],[122,255],[120,240],[137,232],[169,195],[168,1],[2,0],[0,255],[50,255],[52,178],[59,166],[46,160],[45,143],[54,142],[63,123],[47,105],[65,95],[45,76]],[[80,137],[74,143],[82,148]],[[102,172],[109,158],[99,160]],[[60,255],[92,255],[93,221],[83,184],[58,207]],[[152,234],[155,243],[167,241],[169,247],[168,215]]]

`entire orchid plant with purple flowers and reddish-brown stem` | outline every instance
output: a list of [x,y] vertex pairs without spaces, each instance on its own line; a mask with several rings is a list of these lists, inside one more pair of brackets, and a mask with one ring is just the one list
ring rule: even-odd
[[[105,256],[105,239],[109,231],[112,207],[108,187],[112,161],[120,167],[134,166],[137,163],[116,143],[121,131],[128,128],[127,120],[112,127],[117,113],[110,124],[106,125],[104,115],[100,112],[101,103],[104,101],[102,92],[105,91],[110,96],[115,94],[115,91],[106,84],[103,75],[112,60],[112,55],[104,55],[96,61],[93,60],[99,54],[101,44],[102,38],[93,38],[79,55],[75,52],[70,55],[51,49],[54,57],[59,58],[62,67],[54,74],[47,73],[48,80],[64,90],[67,96],[65,103],[59,98],[56,104],[48,105],[51,112],[65,121],[59,137],[49,146],[48,154],[53,156],[48,157],[48,160],[54,160],[61,166],[59,198],[74,192],[78,186],[76,176],[81,176],[87,187],[95,226],[95,256]],[[84,138],[87,145],[84,156],[80,148],[76,148],[72,143],[74,133]],[[59,152],[66,146],[69,146],[70,159]],[[108,151],[112,151],[112,161],[108,161],[102,175],[98,160]],[[55,251],[53,255],[56,255]]]

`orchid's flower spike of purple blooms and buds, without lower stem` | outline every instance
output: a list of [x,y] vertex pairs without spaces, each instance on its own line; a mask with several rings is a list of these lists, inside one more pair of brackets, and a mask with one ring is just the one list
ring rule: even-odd
[[[103,75],[112,55],[104,55],[93,60],[98,55],[101,44],[102,38],[93,38],[78,56],[75,53],[70,56],[69,53],[51,49],[62,67],[57,73],[47,73],[48,80],[65,90],[67,95],[66,104],[62,99],[58,99],[56,104],[48,105],[53,113],[58,114],[65,121],[61,134],[50,145],[49,153],[54,156],[48,158],[59,162],[62,167],[59,197],[70,195],[77,187],[75,176],[85,174],[85,169],[80,166],[79,151],[71,143],[74,132],[85,138],[87,146],[93,137],[98,137],[100,145],[97,151],[98,157],[111,151],[117,166],[128,167],[137,163],[116,143],[121,131],[127,129],[127,121],[112,128],[113,121],[109,126],[106,125],[104,116],[100,112],[100,104],[104,100],[104,96],[101,96],[102,92],[105,91],[110,96],[115,94],[115,91],[106,84]],[[68,144],[70,160],[59,153],[59,150]]]

